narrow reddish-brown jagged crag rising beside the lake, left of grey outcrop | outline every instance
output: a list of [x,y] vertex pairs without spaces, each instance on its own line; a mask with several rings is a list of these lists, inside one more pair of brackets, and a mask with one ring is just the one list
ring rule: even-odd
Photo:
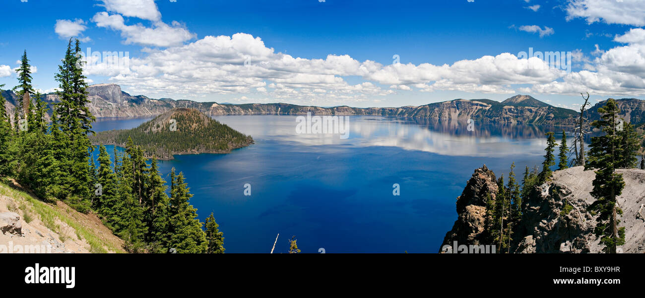
[[455,241],[458,244],[483,244],[482,233],[486,223],[486,203],[488,199],[495,200],[497,183],[493,171],[488,170],[486,164],[475,170],[466,183],[466,188],[457,197],[457,214],[459,217],[446,233],[440,247]]

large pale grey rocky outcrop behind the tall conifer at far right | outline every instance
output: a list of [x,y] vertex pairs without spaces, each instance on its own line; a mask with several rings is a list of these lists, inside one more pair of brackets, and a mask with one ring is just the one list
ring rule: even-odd
[[[623,210],[619,227],[626,228],[624,253],[645,252],[645,219],[639,209],[645,203],[645,171],[620,169],[625,181],[617,197]],[[596,216],[587,211],[595,201],[590,192],[595,173],[582,166],[557,171],[553,179],[533,192],[516,232],[523,237],[515,252],[599,253],[602,247],[593,234]],[[641,214],[643,212],[641,211]]]

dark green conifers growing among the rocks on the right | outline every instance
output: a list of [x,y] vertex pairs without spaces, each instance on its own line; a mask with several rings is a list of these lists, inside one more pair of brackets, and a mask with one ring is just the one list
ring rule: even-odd
[[[620,110],[614,99],[609,99],[606,106],[598,110],[602,119],[594,121],[591,126],[604,132],[604,135],[591,137],[590,150],[585,154],[588,159],[585,163],[585,170],[593,169],[595,179],[593,180],[593,191],[591,195],[596,201],[589,206],[589,210],[598,214],[595,234],[600,237],[600,243],[605,245],[605,252],[615,253],[617,247],[625,243],[625,228],[618,227],[622,214],[620,206],[617,205],[616,197],[624,188],[622,174],[615,170],[618,168],[635,168],[637,166],[637,154],[640,150],[635,128],[630,123],[624,123],[619,119]],[[544,162],[542,170],[526,166],[522,187],[515,182],[515,173],[511,164],[511,171],[508,175],[508,183],[504,185],[504,176],[497,179],[497,193],[493,199],[491,194],[486,197],[486,235],[489,243],[499,246],[499,251],[508,252],[513,240],[513,231],[521,222],[522,214],[526,211],[526,204],[539,186],[550,179],[555,166],[555,146],[559,146],[558,170],[567,168],[567,152],[569,151],[566,132],[562,131],[560,144],[555,143],[553,132],[548,132],[547,146],[544,149]],[[644,163],[644,162],[641,162]]]

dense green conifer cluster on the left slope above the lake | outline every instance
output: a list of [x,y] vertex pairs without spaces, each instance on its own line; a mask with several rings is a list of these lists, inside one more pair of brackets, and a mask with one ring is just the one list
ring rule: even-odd
[[[170,195],[157,160],[150,164],[128,139],[114,163],[99,146],[97,161],[88,136],[95,117],[88,108],[81,46],[70,39],[55,80],[59,102],[51,111],[32,86],[26,50],[17,69],[14,119],[0,94],[0,179],[13,177],[43,201],[64,201],[79,212],[94,211],[131,252],[223,253],[224,237],[213,214],[206,230],[190,204],[183,173],[172,170]],[[0,85],[0,88],[2,85]],[[13,121],[12,121],[13,120]]]

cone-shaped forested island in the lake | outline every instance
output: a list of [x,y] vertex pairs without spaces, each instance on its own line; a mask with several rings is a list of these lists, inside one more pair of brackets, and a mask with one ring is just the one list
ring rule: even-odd
[[141,146],[146,158],[172,159],[174,154],[229,153],[253,144],[226,124],[193,108],[174,108],[130,130],[110,130],[90,136],[92,144]]

